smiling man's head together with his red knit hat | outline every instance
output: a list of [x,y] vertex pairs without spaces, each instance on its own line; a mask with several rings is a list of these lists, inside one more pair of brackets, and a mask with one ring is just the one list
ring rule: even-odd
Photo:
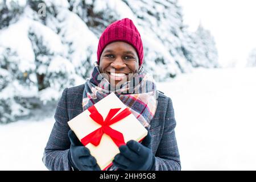
[[141,35],[132,20],[118,20],[106,28],[98,43],[99,71],[115,90],[135,78],[143,63]]

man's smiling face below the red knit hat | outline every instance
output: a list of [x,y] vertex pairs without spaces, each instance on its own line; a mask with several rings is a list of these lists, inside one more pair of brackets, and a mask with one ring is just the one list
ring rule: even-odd
[[108,44],[100,57],[100,72],[105,73],[108,81],[116,86],[130,80],[131,73],[137,73],[139,58],[133,46],[125,42]]

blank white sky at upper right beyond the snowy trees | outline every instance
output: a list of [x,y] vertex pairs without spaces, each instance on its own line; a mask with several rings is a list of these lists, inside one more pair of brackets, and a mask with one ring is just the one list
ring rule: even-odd
[[195,31],[201,21],[210,30],[218,48],[219,62],[246,64],[251,49],[256,48],[255,0],[179,0],[184,23]]

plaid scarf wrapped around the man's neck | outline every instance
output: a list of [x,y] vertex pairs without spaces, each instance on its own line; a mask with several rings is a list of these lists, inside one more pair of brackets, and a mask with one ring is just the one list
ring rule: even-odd
[[119,89],[112,89],[109,81],[100,73],[97,62],[94,63],[92,76],[85,81],[82,94],[82,110],[96,104],[111,92],[125,104],[142,123],[144,127],[150,127],[150,122],[155,115],[158,92],[154,79],[149,76],[141,66],[138,73]]

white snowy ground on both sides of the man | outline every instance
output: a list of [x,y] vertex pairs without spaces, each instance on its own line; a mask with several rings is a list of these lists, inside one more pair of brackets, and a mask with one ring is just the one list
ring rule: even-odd
[[[158,85],[174,104],[183,170],[256,169],[255,78],[256,68],[196,69]],[[53,123],[0,126],[0,170],[45,170]]]

